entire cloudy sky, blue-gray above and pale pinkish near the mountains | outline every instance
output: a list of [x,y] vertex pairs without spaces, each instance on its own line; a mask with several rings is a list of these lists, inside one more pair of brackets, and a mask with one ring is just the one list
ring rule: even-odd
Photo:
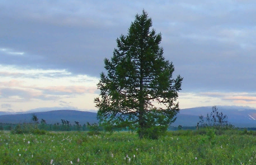
[[256,107],[256,1],[0,0],[0,111],[96,112],[116,39],[142,10],[184,79],[180,108]]

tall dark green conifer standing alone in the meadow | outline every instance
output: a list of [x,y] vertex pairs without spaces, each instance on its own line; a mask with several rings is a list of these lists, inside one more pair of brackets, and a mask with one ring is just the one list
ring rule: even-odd
[[[128,36],[116,39],[117,49],[111,61],[104,59],[100,74],[100,97],[94,102],[97,118],[105,128],[136,129],[139,137],[158,138],[176,120],[176,102],[183,78],[172,79],[174,65],[163,57],[159,46],[162,34],[156,34],[151,18],[143,10],[136,14],[128,29]],[[152,101],[166,108],[156,107]]]

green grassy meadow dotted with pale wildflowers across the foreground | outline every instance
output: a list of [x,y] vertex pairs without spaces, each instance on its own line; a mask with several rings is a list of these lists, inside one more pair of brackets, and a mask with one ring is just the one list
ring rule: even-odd
[[[216,135],[217,134],[217,135]],[[221,135],[219,135],[221,134]],[[72,161],[72,162],[71,162]],[[78,162],[79,161],[79,162]],[[0,132],[0,164],[256,164],[255,132],[170,131],[158,140],[118,132]]]

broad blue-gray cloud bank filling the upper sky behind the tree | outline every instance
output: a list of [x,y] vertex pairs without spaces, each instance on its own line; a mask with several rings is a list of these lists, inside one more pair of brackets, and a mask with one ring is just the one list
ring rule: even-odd
[[241,0],[10,0],[0,3],[0,47],[24,56],[0,52],[0,64],[99,77],[115,39],[127,34],[136,12],[144,8],[163,34],[164,56],[173,61],[175,75],[184,77],[184,92],[253,92],[255,7],[255,1]]

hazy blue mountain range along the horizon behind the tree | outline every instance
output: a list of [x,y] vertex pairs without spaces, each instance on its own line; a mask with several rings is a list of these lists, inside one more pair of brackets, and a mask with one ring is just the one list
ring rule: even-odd
[[[219,112],[223,112],[228,116],[228,121],[236,127],[256,127],[256,110],[248,107],[238,106],[217,106]],[[199,115],[206,116],[207,113],[211,113],[211,107],[195,107],[181,109],[180,113],[176,115],[177,120],[171,124],[171,126],[196,126],[199,122]],[[26,112],[0,112],[1,123],[23,123],[31,121],[31,114]],[[61,119],[68,120],[71,124],[78,121],[81,125],[86,122],[94,123],[98,122],[96,116],[97,113],[76,111],[76,110],[54,110],[47,112],[35,112],[39,122],[41,119],[46,120],[48,124],[54,124]]]

